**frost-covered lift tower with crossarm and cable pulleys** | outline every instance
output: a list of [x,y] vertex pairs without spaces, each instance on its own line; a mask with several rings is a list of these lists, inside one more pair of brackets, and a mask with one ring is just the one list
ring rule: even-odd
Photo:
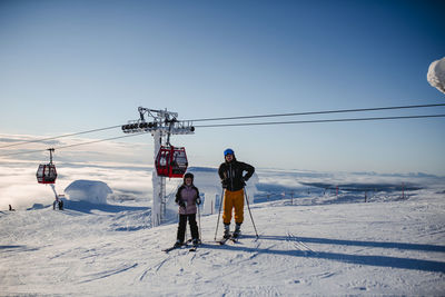
[[[169,145],[170,135],[191,135],[195,128],[191,121],[178,121],[178,113],[165,110],[155,110],[144,107],[138,108],[139,119],[129,121],[122,126],[125,133],[150,132],[155,140],[155,155],[158,156],[161,146]],[[151,118],[151,121],[145,119],[145,115]],[[156,166],[152,171],[152,207],[151,224],[154,227],[159,226],[166,217],[166,177],[159,176]]]

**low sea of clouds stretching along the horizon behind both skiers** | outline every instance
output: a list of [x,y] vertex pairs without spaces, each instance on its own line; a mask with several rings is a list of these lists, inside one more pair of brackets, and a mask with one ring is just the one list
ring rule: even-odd
[[[34,162],[0,162],[0,210],[7,210],[8,205],[16,209],[26,209],[34,204],[51,205],[55,196],[49,186],[39,185],[36,179],[37,166]],[[196,186],[206,194],[206,200],[215,199],[220,195],[220,184],[216,169],[204,170],[190,168],[195,174]],[[152,168],[125,165],[125,164],[61,164],[58,167],[59,178],[56,182],[58,194],[76,180],[102,181],[112,190],[108,195],[108,201],[113,204],[121,200],[137,200],[148,207],[151,206]],[[167,195],[175,194],[181,179],[167,179]],[[256,175],[248,182],[248,194],[254,201],[257,194],[256,186],[263,185],[263,190],[284,187],[291,189],[307,189],[315,184],[342,185],[344,182],[358,182],[363,185],[397,185],[405,184],[444,185],[444,178],[423,175],[377,175],[373,172],[317,172],[298,170],[266,170],[258,169]],[[275,187],[277,186],[277,187]],[[443,187],[442,187],[443,188]],[[443,189],[442,189],[443,190]],[[250,199],[250,198],[249,198]],[[205,206],[205,212],[210,212],[209,202]]]

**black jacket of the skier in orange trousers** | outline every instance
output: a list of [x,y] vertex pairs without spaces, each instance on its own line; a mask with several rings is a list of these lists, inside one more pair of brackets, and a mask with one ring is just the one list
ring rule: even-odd
[[[244,171],[247,171],[245,176]],[[229,191],[237,191],[246,186],[246,182],[255,172],[251,165],[237,161],[235,156],[230,162],[225,161],[219,166],[218,175],[221,179],[222,187]]]

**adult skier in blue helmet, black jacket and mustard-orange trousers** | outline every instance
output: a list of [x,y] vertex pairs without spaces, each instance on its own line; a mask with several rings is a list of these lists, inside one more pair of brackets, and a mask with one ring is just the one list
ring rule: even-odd
[[[235,208],[235,231],[238,237],[244,220],[244,187],[246,181],[254,175],[255,168],[251,165],[238,161],[233,149],[224,151],[225,161],[219,166],[218,175],[221,179],[224,194],[224,238],[230,237],[231,212]],[[246,175],[244,172],[246,171]]]

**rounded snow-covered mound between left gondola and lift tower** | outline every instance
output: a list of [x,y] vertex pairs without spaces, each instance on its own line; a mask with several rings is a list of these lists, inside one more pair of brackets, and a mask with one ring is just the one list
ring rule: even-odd
[[112,190],[103,181],[76,180],[65,189],[65,194],[70,200],[106,205],[107,196],[112,194]]

